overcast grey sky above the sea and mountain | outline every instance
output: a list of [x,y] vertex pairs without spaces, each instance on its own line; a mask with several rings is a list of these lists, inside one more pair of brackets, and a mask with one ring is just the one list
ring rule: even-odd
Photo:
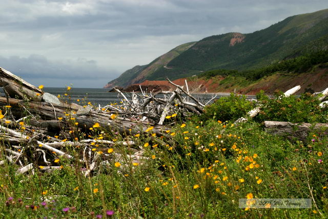
[[250,33],[327,0],[0,0],[0,66],[36,86],[101,88],[187,42]]

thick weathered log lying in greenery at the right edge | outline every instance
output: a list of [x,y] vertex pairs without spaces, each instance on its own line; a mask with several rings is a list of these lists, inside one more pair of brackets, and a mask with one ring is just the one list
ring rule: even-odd
[[306,141],[309,132],[316,131],[321,134],[328,134],[328,124],[318,123],[312,125],[310,123],[293,124],[289,122],[264,121],[264,130],[274,135],[286,136],[290,139],[297,138]]

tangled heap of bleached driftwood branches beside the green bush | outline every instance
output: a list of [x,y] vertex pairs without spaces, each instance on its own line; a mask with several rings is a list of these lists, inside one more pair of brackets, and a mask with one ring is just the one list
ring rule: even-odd
[[[116,92],[123,97],[119,108],[113,108],[120,116],[126,119],[134,118],[135,120],[147,121],[152,124],[163,125],[166,117],[175,113],[196,113],[201,114],[203,107],[211,103],[216,95],[212,96],[209,100],[196,98],[189,92],[188,84],[186,81],[186,90],[174,84],[170,79],[166,78],[168,82],[176,87],[174,91],[157,91],[146,93],[141,89],[140,92],[131,93],[131,100],[129,100],[124,93],[117,88],[113,88]],[[157,97],[161,96],[161,97]]]

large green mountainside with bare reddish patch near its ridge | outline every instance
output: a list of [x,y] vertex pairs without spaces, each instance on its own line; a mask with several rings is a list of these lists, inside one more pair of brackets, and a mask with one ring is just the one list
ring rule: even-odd
[[215,69],[261,69],[283,59],[326,50],[327,36],[328,9],[295,15],[253,33],[214,35],[188,44],[178,55],[166,59],[165,65],[155,65],[160,57],[155,59],[147,67],[152,71],[139,72],[129,83],[177,79]]

